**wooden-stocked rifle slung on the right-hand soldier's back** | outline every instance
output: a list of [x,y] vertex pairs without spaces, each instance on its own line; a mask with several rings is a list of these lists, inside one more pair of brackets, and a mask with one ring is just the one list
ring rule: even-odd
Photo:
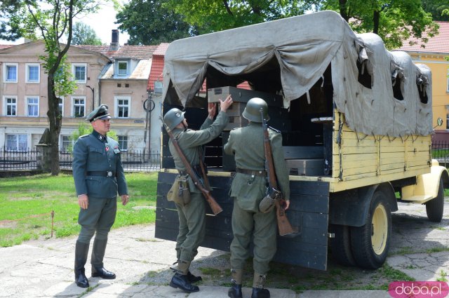
[[279,235],[285,236],[287,234],[297,233],[297,228],[293,228],[288,217],[286,216],[286,200],[283,198],[282,192],[278,190],[276,182],[276,172],[274,172],[273,152],[272,146],[269,142],[267,120],[264,118],[263,109],[260,109],[262,116],[262,129],[264,131],[264,151],[265,151],[265,170],[267,171],[268,190],[267,196],[262,199],[260,204],[267,201],[274,201],[276,204],[276,219],[278,222]]

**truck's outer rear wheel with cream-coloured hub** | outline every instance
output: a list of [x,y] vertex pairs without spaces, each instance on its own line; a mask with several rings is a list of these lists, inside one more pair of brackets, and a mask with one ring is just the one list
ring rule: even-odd
[[377,189],[365,225],[351,226],[351,250],[356,264],[377,269],[387,259],[391,236],[391,212],[384,191]]

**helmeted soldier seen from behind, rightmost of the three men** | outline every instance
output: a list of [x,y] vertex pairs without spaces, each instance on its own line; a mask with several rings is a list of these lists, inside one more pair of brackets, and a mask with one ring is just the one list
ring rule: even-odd
[[[268,116],[267,103],[260,98],[252,98],[246,104],[242,116],[248,119],[248,126],[231,130],[225,144],[226,154],[234,154],[236,175],[232,181],[231,196],[234,198],[232,210],[231,243],[232,287],[228,296],[242,297],[241,283],[243,266],[249,255],[251,236],[254,243],[254,279],[252,298],[268,298],[269,290],[264,289],[264,281],[269,271],[269,262],[276,253],[276,210],[260,212],[259,204],[267,194],[267,172],[264,168],[264,134],[262,115]],[[290,205],[290,187],[288,171],[283,156],[282,135],[269,129],[269,141],[272,146],[274,168],[278,186],[286,199],[286,208]],[[248,144],[251,144],[248,146]]]

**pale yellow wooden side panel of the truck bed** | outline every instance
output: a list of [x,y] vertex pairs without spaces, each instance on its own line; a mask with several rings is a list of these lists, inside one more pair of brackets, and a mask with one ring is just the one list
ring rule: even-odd
[[[430,172],[431,137],[387,137],[350,130],[335,111],[333,191],[363,187]],[[343,123],[343,124],[341,124]],[[338,143],[340,141],[340,143]]]

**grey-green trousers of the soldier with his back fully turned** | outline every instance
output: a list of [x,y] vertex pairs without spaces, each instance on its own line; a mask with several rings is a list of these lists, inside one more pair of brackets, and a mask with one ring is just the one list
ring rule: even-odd
[[269,271],[269,262],[276,254],[276,229],[275,209],[267,213],[246,211],[234,200],[231,268],[243,269],[250,255],[250,241],[253,236],[253,269],[257,273],[266,274]]

